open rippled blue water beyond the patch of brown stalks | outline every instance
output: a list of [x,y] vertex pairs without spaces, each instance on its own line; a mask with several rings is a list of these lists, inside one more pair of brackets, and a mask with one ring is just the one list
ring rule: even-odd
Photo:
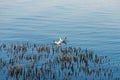
[[119,0],[0,0],[0,42],[52,43],[108,56],[120,67]]

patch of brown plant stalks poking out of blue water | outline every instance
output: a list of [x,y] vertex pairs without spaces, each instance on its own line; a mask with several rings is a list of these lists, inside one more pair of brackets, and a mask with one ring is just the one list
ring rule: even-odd
[[107,56],[80,47],[0,44],[3,80],[112,80],[109,63]]

